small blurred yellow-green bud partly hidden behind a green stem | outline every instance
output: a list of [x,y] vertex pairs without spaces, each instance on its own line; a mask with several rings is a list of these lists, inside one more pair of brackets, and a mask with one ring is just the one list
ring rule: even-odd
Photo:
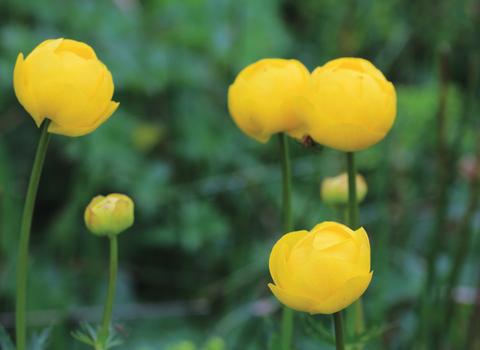
[[[357,203],[362,202],[367,195],[367,183],[362,175],[357,174]],[[348,205],[348,174],[346,172],[335,176],[326,177],[320,185],[322,201],[331,207]]]

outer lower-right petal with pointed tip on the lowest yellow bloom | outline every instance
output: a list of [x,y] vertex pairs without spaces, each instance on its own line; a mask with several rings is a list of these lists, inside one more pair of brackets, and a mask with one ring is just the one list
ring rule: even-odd
[[[373,272],[348,280],[334,295],[308,310],[311,315],[333,314],[360,298],[372,280]],[[277,297],[278,298],[278,297]],[[280,299],[280,298],[279,298]]]

